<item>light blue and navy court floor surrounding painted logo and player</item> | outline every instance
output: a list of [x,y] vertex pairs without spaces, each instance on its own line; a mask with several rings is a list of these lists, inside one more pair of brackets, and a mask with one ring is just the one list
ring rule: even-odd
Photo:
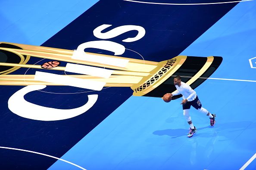
[[[192,3],[190,0],[147,2],[151,3],[0,1],[0,42],[73,50],[81,43],[102,40],[93,34],[102,24],[112,25],[104,32],[138,25],[146,33],[135,42],[122,41],[136,36],[135,30],[108,39],[125,46],[122,57],[159,62],[178,55],[221,56],[219,68],[195,89],[203,107],[217,115],[215,126],[209,125],[206,115],[191,108],[198,131],[188,138],[181,99],[165,103],[161,98],[132,96],[129,87],[90,92],[47,86],[46,91],[52,93],[35,91],[25,99],[41,106],[70,109],[86,103],[89,94],[99,97],[91,109],[74,118],[37,121],[8,108],[9,98],[24,86],[1,85],[0,169],[256,169],[256,160],[247,163],[256,154],[256,59],[252,59],[256,57],[256,1],[193,1],[219,3],[207,5],[156,4],[187,4]],[[100,49],[88,52],[114,55]],[[31,58],[28,64],[40,60]],[[24,75],[26,71],[21,68],[11,74]]]

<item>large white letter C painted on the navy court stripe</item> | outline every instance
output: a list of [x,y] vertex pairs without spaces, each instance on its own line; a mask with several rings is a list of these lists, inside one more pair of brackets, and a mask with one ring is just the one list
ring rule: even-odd
[[56,121],[81,115],[90,109],[94,103],[96,103],[98,98],[97,94],[88,95],[88,102],[83,106],[75,109],[54,109],[50,107],[39,106],[24,99],[25,94],[31,91],[41,90],[45,87],[46,85],[28,85],[20,89],[16,93],[12,94],[12,96],[9,98],[9,109],[16,115],[19,115],[23,118],[30,118],[41,121]]

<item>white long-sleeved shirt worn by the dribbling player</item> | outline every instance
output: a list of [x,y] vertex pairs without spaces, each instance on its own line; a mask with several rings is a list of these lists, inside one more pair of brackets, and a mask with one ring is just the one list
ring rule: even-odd
[[176,91],[172,93],[173,96],[182,94],[182,98],[187,101],[192,101],[197,97],[196,91],[194,91],[189,85],[187,85],[184,82],[181,82],[181,86],[179,87],[178,85],[175,85],[177,88]]

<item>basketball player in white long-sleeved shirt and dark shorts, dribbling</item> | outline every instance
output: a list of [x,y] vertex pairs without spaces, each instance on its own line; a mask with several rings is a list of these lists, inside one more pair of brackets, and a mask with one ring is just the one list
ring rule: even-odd
[[183,115],[187,120],[187,123],[190,126],[190,131],[187,134],[187,137],[192,137],[193,134],[197,131],[196,127],[191,121],[190,115],[189,115],[189,109],[190,106],[193,106],[195,109],[199,109],[200,112],[203,114],[209,116],[210,118],[210,125],[213,126],[215,124],[215,114],[211,114],[208,112],[205,108],[202,107],[202,104],[200,100],[197,97],[196,92],[186,83],[181,82],[181,77],[180,76],[175,76],[173,79],[174,85],[177,88],[177,91],[173,93],[168,93],[171,96],[175,96],[178,94],[182,94],[182,108],[183,108]]

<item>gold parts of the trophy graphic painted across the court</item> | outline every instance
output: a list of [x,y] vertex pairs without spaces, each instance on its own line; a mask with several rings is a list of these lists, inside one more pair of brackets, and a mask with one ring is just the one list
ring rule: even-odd
[[[40,65],[27,64],[31,57],[46,58],[53,61],[66,61],[69,63],[84,64],[89,66],[103,67],[113,69],[112,75],[105,79],[89,75],[66,75],[79,79],[90,79],[100,82],[106,82],[106,87],[131,87],[134,96],[143,96],[153,91],[159,85],[167,81],[171,76],[180,69],[187,60],[187,56],[177,56],[170,60],[154,62],[144,61],[133,58],[117,57],[112,55],[102,55],[95,53],[87,53],[95,56],[103,56],[109,58],[121,58],[128,60],[126,67],[116,67],[107,64],[100,64],[90,61],[72,59],[73,50],[56,49],[43,46],[31,46],[17,43],[0,43],[0,57],[17,58],[17,63],[8,63],[8,60],[0,60],[0,85],[58,85],[49,82],[39,82],[34,80],[34,75],[10,75],[9,73],[18,70],[21,67],[44,69]],[[207,57],[203,67],[197,70],[197,73],[187,82],[191,85],[202,76],[206,70],[212,65],[216,57]],[[4,61],[4,62],[3,62]],[[54,67],[51,70],[65,70],[65,67]]]

